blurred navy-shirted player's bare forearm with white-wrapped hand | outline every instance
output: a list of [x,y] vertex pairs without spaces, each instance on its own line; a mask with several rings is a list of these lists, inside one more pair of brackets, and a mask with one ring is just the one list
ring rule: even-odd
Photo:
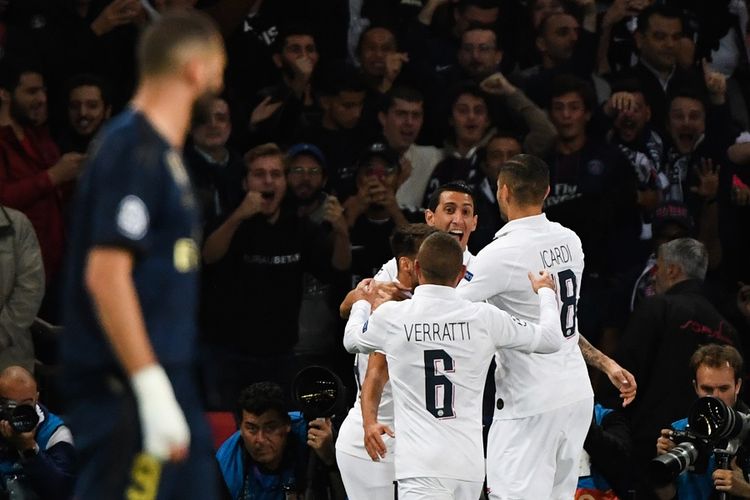
[[181,460],[187,456],[190,431],[148,338],[132,272],[129,250],[94,247],[86,262],[86,288],[115,356],[130,378],[144,450],[162,460]]

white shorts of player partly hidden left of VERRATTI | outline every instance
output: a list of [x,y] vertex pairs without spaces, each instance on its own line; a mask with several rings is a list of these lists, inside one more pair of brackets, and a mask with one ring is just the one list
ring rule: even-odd
[[373,462],[336,450],[336,463],[350,500],[393,500],[393,462]]

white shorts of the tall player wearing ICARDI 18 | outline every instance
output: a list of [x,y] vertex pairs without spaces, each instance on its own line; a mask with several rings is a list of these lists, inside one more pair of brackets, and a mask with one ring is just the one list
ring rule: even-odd
[[493,500],[575,497],[593,398],[512,420],[493,420],[487,439],[487,489]]

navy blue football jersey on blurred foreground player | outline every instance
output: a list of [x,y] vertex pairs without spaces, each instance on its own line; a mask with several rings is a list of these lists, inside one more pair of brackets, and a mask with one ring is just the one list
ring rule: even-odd
[[133,254],[133,280],[162,364],[184,364],[197,334],[200,223],[181,153],[135,110],[97,137],[78,184],[66,265],[63,361],[71,369],[113,367],[116,358],[85,286],[95,247]]

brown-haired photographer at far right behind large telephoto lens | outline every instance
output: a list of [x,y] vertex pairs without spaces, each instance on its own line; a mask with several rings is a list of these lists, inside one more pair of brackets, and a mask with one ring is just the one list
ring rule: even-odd
[[[700,347],[690,358],[693,370],[693,386],[698,397],[713,396],[728,407],[748,413],[750,408],[737,399],[742,385],[742,357],[732,346],[707,344]],[[687,428],[687,419],[678,420],[671,429],[662,429],[661,437],[656,441],[657,455],[664,455],[675,447],[671,437],[674,431]],[[706,472],[699,474],[686,471],[677,480],[666,486],[655,488],[660,499],[710,498],[713,490],[727,492],[735,498],[750,498],[750,456],[748,448],[740,447],[733,458],[730,469],[717,469],[712,454]]]

